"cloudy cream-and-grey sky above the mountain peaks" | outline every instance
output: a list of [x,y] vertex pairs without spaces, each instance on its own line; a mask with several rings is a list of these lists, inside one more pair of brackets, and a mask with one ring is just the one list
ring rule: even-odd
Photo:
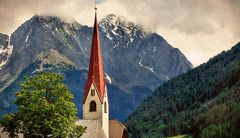
[[[72,18],[91,26],[94,0],[0,0],[0,32],[33,15]],[[157,32],[196,67],[240,41],[240,0],[97,0],[98,18],[126,17]]]

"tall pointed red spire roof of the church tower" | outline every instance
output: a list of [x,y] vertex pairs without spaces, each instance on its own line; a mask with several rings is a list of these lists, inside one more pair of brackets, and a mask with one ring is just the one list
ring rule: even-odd
[[98,32],[97,12],[95,12],[88,79],[87,79],[87,83],[84,91],[83,104],[86,101],[86,98],[88,96],[88,92],[92,83],[94,83],[94,86],[97,89],[97,94],[99,96],[99,99],[103,103],[104,91],[105,91],[105,80],[104,80],[103,67],[102,67],[102,55],[101,55],[100,38],[99,38],[99,32]]

